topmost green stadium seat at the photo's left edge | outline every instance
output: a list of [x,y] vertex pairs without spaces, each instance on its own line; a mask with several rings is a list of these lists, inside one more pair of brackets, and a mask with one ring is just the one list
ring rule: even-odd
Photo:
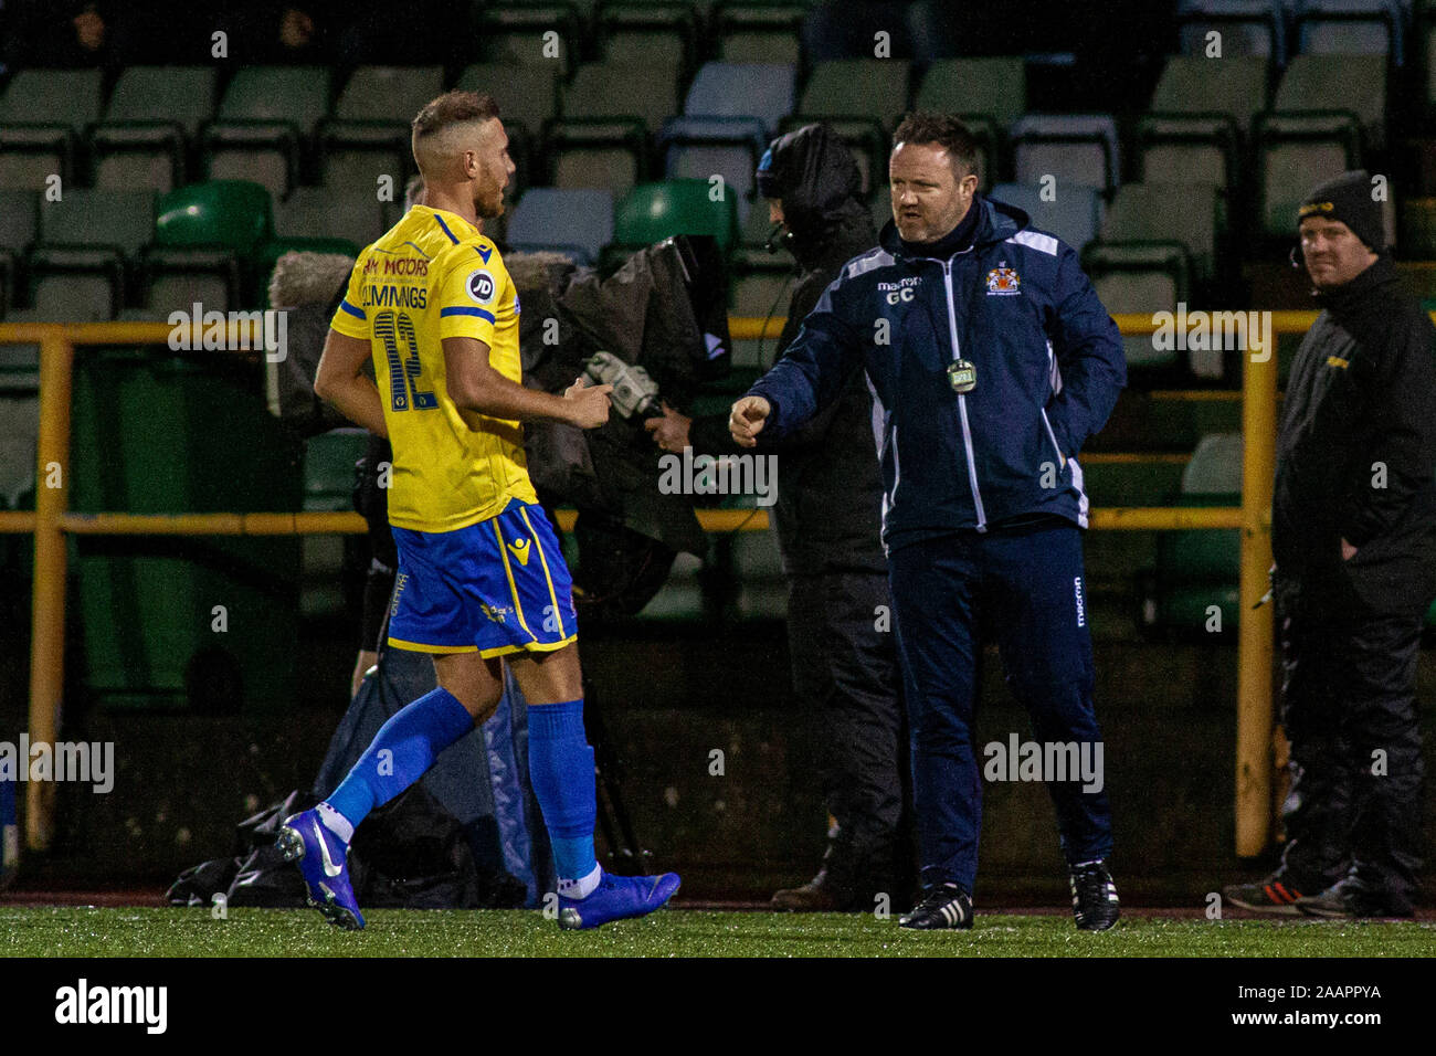
[[75,178],[75,149],[99,121],[103,73],[26,69],[0,95],[0,187],[43,190]]

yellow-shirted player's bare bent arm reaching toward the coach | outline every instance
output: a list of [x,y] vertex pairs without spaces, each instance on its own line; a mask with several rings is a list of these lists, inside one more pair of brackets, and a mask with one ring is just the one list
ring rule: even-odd
[[[488,362],[488,345],[478,338],[444,338],[448,397],[460,414],[508,421],[560,421],[592,430],[609,420],[612,385],[584,385],[580,378],[561,395],[524,388]],[[376,391],[378,395],[378,391]],[[470,428],[478,422],[464,415]]]

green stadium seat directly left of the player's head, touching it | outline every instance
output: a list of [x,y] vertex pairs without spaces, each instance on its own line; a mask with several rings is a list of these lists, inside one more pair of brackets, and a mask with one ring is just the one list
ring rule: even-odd
[[360,66],[320,125],[325,184],[376,187],[393,181],[395,197],[414,171],[414,115],[444,91],[442,66]]

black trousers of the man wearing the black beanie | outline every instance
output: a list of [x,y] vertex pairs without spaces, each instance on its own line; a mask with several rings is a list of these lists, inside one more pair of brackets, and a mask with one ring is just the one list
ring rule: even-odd
[[1291,792],[1282,875],[1315,894],[1350,875],[1360,897],[1409,912],[1422,866],[1420,615],[1279,611]]

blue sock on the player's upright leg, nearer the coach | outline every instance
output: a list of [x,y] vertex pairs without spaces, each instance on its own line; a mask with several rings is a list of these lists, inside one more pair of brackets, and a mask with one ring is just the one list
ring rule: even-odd
[[583,698],[528,705],[528,776],[543,810],[559,881],[580,881],[597,868],[593,823],[593,749],[583,736]]

